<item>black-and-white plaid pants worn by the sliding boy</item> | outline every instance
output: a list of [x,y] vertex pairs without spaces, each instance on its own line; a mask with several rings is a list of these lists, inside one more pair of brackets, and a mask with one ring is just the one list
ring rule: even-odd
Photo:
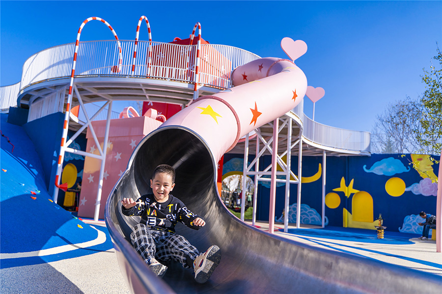
[[146,260],[155,256],[158,260],[174,260],[189,269],[193,260],[199,255],[198,249],[181,235],[149,230],[139,223],[131,234],[132,245],[141,257]]

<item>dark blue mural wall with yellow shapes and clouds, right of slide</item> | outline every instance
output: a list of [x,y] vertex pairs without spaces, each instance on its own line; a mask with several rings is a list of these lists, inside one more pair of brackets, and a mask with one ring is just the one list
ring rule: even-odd
[[[432,156],[439,161],[439,156]],[[243,156],[225,154],[224,164],[235,159],[242,171]],[[253,157],[249,158],[249,162]],[[416,164],[412,164],[412,162]],[[271,156],[260,159],[260,169],[271,163]],[[319,172],[322,156],[303,157],[303,177]],[[292,157],[297,174],[298,157]],[[386,230],[420,234],[420,211],[436,214],[437,173],[439,163],[428,155],[373,154],[372,156],[327,157],[326,225],[375,229],[380,214]],[[223,170],[223,173],[227,171]],[[252,177],[253,178],[253,177]],[[301,220],[320,224],[322,211],[322,175],[302,184]],[[317,179],[316,179],[317,178]],[[270,183],[260,182],[257,194],[257,219],[269,220]],[[296,220],[297,185],[290,187],[289,221]],[[276,188],[276,221],[282,221],[285,184]],[[319,217],[319,219],[318,219]],[[303,221],[304,220],[304,221]]]

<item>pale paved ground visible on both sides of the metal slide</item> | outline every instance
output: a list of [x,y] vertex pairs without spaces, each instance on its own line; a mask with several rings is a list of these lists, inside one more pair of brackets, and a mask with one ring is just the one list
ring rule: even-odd
[[[87,221],[104,226],[103,221]],[[249,222],[249,221],[248,221]],[[251,224],[251,222],[249,222]],[[267,223],[256,223],[268,231]],[[276,224],[277,228],[283,225]],[[310,226],[309,228],[312,228]],[[306,227],[296,230],[290,225],[291,233],[275,231],[276,235],[307,245],[329,250],[358,254],[383,262],[442,275],[442,255],[436,252],[435,241],[420,241],[412,238],[407,244],[383,244],[367,240],[331,239],[316,234]],[[313,227],[314,229],[314,227]],[[367,230],[362,230],[367,231]],[[312,233],[313,232],[313,233]],[[375,231],[373,231],[375,234]],[[339,235],[341,235],[339,233]],[[398,242],[401,243],[401,242]],[[402,242],[404,243],[404,242]],[[58,260],[37,265],[1,269],[0,293],[70,293],[70,294],[126,294],[129,290],[121,275],[114,249],[75,258]],[[44,281],[36,283],[36,281]]]

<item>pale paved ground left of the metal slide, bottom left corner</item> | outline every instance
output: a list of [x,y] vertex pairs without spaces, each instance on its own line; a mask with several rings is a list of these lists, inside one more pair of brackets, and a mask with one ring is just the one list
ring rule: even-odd
[[[95,224],[104,226],[103,221]],[[129,293],[113,248],[55,262],[2,268],[0,280],[0,293],[5,294]]]

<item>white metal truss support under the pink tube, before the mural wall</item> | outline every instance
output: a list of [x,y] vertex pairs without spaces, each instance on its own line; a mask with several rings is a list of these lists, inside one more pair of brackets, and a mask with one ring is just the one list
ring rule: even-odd
[[[280,121],[282,123],[280,123]],[[271,182],[270,192],[270,210],[269,210],[269,232],[273,234],[274,224],[275,224],[275,194],[276,194],[276,183],[282,182],[285,183],[285,204],[284,204],[284,232],[288,231],[288,211],[289,211],[289,198],[290,198],[290,184],[298,184],[298,207],[300,207],[301,203],[301,176],[295,175],[291,171],[291,156],[292,149],[299,144],[299,166],[298,166],[298,175],[302,174],[302,126],[300,126],[300,133],[297,138],[295,138],[295,142],[293,142],[292,138],[292,127],[293,127],[293,119],[289,116],[284,116],[276,119],[273,122],[274,133],[272,138],[269,141],[261,136],[261,134],[256,131],[256,152],[255,158],[249,164],[249,137],[246,137],[245,140],[245,150],[244,150],[244,166],[243,166],[243,187],[246,187],[246,177],[254,176],[254,195],[253,195],[253,213],[252,213],[252,225],[255,225],[256,222],[256,206],[257,206],[257,191],[258,191],[258,182],[266,181]],[[295,121],[296,123],[296,121]],[[287,148],[282,154],[278,154],[277,150],[277,141],[278,138],[283,138],[279,136],[279,133],[286,128],[287,129]],[[264,144],[264,146],[260,147],[260,142]],[[273,146],[272,146],[273,144]],[[263,156],[265,151],[269,151],[272,154],[272,163],[267,166],[263,171],[259,171],[259,159]],[[284,162],[282,158],[287,155],[287,160]],[[278,171],[278,165],[281,167],[282,171]],[[273,168],[275,167],[275,168]],[[254,168],[254,171],[252,169]],[[270,171],[271,170],[271,171]],[[282,176],[284,178],[277,178],[278,176]],[[293,178],[293,179],[292,179]],[[244,221],[245,214],[245,202],[246,202],[246,190],[243,188],[242,192],[242,201],[241,201],[241,220]],[[273,197],[272,197],[273,195]],[[273,203],[273,205],[272,205]],[[299,216],[299,213],[298,213]],[[298,218],[297,216],[297,218]],[[297,220],[297,226],[299,227],[300,221]]]

